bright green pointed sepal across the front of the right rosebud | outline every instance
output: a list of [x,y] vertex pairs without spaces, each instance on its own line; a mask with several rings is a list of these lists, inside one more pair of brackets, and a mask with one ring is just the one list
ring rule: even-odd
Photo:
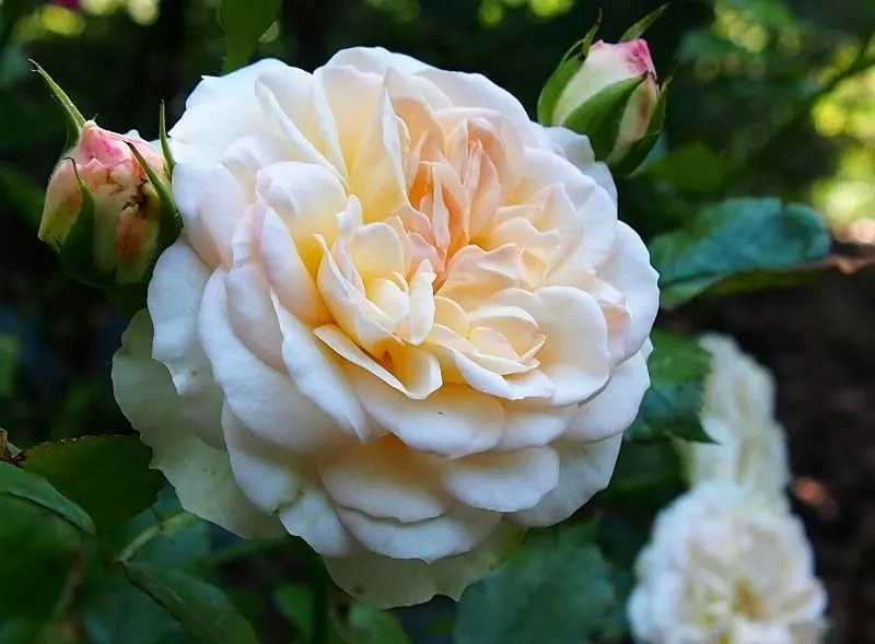
[[635,90],[646,80],[641,74],[606,86],[584,101],[562,121],[562,126],[586,134],[598,161],[608,157],[620,133],[620,124]]

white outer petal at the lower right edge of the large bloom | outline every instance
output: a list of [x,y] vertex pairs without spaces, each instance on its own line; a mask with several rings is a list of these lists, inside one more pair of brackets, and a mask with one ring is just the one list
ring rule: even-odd
[[567,519],[596,492],[607,488],[620,454],[622,434],[587,445],[557,446],[559,484],[530,510],[509,515],[514,523],[526,527],[546,527]]

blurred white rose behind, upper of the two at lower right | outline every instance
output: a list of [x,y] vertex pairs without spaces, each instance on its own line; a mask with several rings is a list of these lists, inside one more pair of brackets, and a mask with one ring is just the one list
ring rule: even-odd
[[707,335],[711,353],[701,421],[715,443],[688,443],[682,450],[690,484],[720,478],[785,504],[790,482],[786,437],[774,418],[774,379],[732,338]]

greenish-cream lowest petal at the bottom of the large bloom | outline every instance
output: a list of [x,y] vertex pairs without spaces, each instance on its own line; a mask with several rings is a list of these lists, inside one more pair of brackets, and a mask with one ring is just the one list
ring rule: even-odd
[[435,595],[459,599],[462,593],[510,557],[523,540],[523,530],[500,523],[477,548],[428,564],[377,554],[331,559],[325,564],[347,593],[380,608],[412,606]]

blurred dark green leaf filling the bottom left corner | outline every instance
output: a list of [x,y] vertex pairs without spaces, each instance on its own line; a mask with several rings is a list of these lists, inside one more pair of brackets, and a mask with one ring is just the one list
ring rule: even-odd
[[0,495],[0,642],[32,644],[54,621],[81,552],[81,532],[13,496]]

